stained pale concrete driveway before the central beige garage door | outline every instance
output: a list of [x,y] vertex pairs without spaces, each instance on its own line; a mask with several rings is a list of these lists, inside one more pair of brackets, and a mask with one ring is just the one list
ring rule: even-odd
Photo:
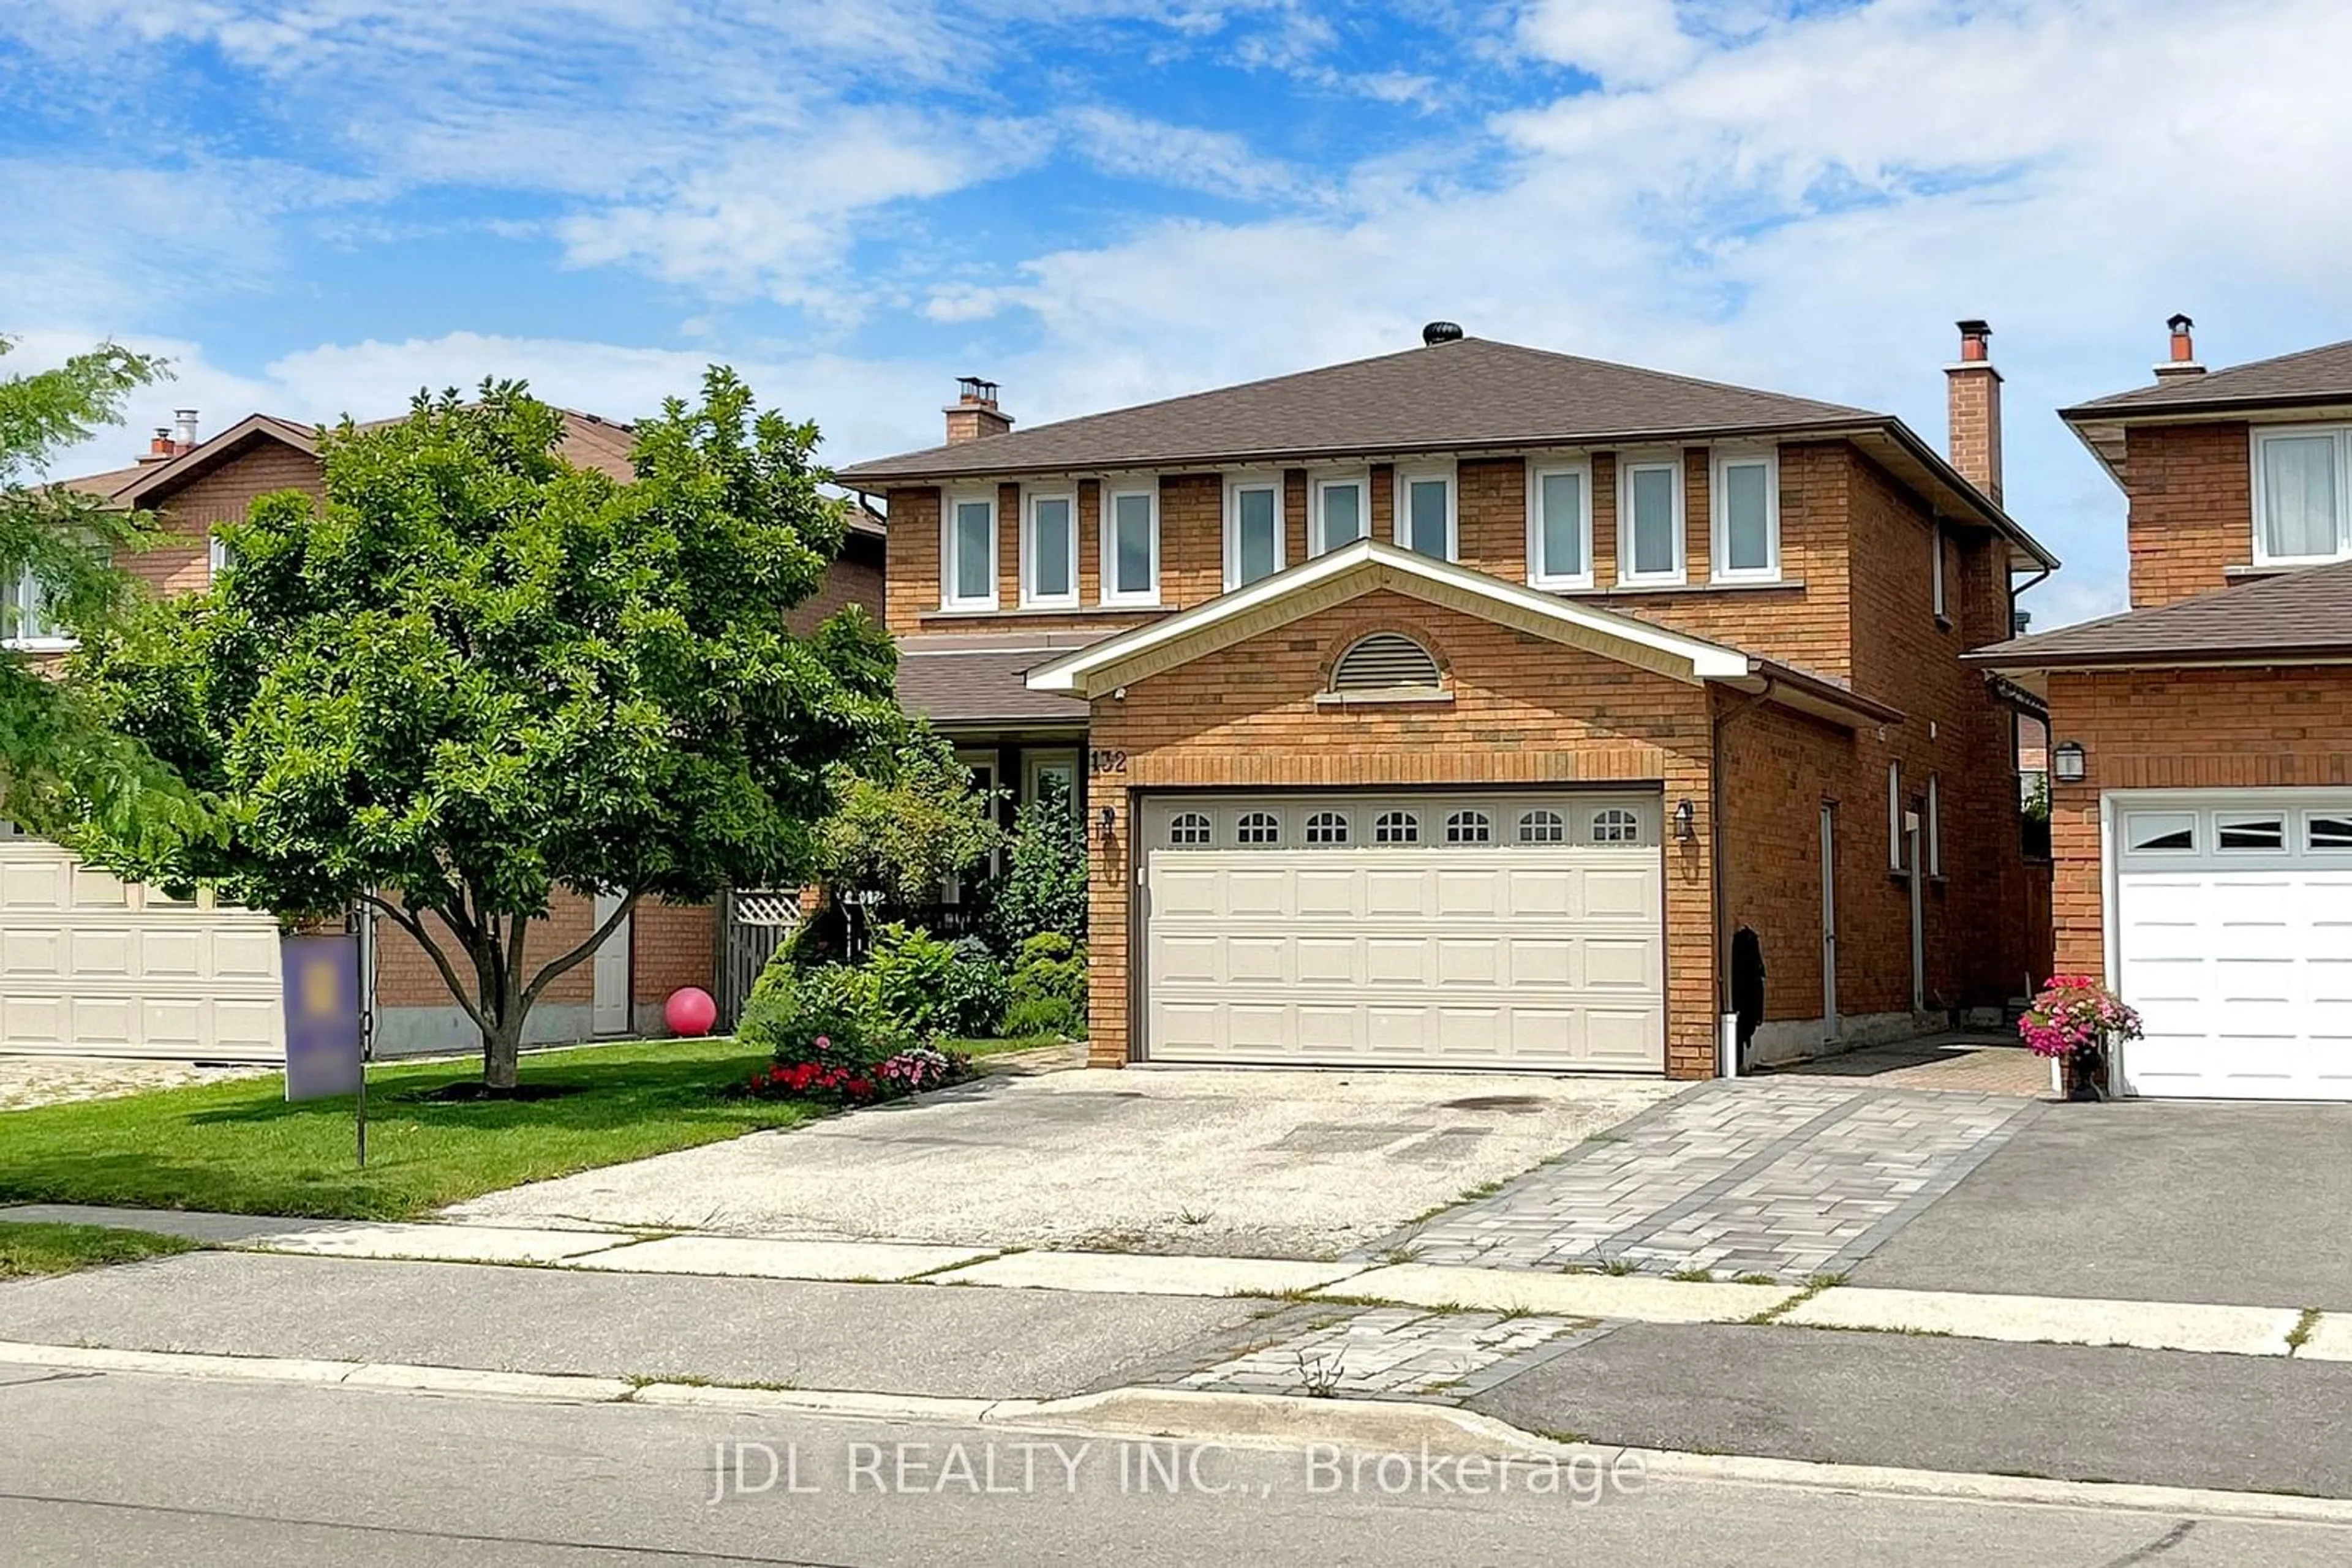
[[1331,1258],[1677,1084],[1439,1072],[988,1077],[459,1204],[496,1225]]

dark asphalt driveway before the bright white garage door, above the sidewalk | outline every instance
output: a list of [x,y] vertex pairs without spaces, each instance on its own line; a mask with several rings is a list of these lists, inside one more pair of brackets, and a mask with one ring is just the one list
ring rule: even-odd
[[2049,1105],[1858,1286],[2352,1309],[2352,1105]]

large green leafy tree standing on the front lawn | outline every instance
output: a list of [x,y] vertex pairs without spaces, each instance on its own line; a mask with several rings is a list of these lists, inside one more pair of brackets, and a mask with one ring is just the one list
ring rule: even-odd
[[[259,498],[209,592],[82,661],[226,820],[162,865],[113,844],[125,870],[287,917],[374,905],[480,1027],[492,1091],[546,987],[637,900],[793,882],[835,766],[903,731],[863,611],[783,623],[842,538],[814,425],[713,369],[640,428],[635,482],[560,440],[520,383],[322,430],[325,505]],[[529,952],[557,889],[616,907]]]

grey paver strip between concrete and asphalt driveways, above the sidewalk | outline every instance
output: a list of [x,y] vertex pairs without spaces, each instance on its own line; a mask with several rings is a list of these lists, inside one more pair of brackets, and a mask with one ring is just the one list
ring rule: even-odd
[[1994,1093],[1703,1084],[1388,1251],[1491,1269],[1842,1272],[2039,1110]]

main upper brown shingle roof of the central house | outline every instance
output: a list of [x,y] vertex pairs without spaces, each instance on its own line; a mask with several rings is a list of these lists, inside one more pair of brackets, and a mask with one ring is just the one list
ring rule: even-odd
[[1811,397],[1458,339],[854,463],[840,480],[882,487],[974,473],[1461,451],[1884,421],[1884,414]]

